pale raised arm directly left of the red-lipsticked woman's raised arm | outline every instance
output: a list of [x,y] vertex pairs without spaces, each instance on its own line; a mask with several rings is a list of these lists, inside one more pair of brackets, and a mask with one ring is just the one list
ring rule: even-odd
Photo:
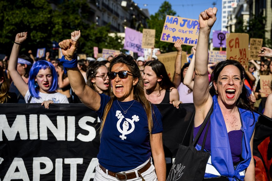
[[193,57],[192,60],[190,62],[190,65],[187,69],[187,72],[184,76],[184,80],[183,80],[183,84],[186,85],[189,89],[193,90],[193,74],[194,74],[194,62],[195,62],[195,51],[196,51],[196,47],[197,45],[192,47],[192,51],[193,51]]

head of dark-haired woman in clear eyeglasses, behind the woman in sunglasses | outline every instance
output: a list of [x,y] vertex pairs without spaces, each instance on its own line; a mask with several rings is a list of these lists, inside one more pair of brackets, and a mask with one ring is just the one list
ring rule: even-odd
[[99,94],[106,94],[109,88],[108,69],[106,65],[95,62],[88,67],[87,85]]

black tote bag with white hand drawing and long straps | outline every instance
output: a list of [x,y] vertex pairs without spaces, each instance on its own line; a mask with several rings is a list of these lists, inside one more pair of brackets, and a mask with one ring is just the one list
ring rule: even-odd
[[[210,157],[210,154],[208,152],[203,151],[204,144],[206,142],[206,137],[208,133],[208,128],[210,125],[209,118],[213,111],[213,102],[212,107],[209,110],[206,118],[203,121],[203,124],[201,125],[198,134],[196,135],[193,143],[193,130],[191,132],[190,137],[190,144],[189,146],[184,146],[182,143],[179,145],[179,150],[177,152],[176,158],[173,162],[172,168],[169,172],[167,181],[201,181],[204,178],[206,165],[208,162],[208,159]],[[185,135],[188,132],[189,127],[191,126],[191,123],[193,122],[193,117],[189,123],[189,126],[187,128],[187,131]],[[203,139],[202,148],[200,151],[198,151],[195,146],[198,142],[198,138],[200,137],[201,133],[203,132],[204,127],[206,126],[208,122],[208,127],[205,132],[205,136]],[[185,136],[184,136],[185,137]],[[182,141],[183,142],[183,141]]]

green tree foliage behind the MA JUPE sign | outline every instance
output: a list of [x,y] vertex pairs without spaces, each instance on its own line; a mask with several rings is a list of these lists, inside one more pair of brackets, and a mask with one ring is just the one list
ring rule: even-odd
[[[150,20],[147,21],[148,27],[150,29],[156,30],[155,48],[159,48],[163,53],[176,51],[173,43],[160,41],[166,15],[176,16],[176,12],[172,10],[171,4],[167,1],[163,2],[158,12],[156,12],[154,15],[151,15]],[[187,51],[188,53],[191,52],[191,48],[192,46],[182,45],[183,51]]]

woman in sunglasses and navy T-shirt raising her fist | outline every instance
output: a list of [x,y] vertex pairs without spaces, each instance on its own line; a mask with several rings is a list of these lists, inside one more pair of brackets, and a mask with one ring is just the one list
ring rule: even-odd
[[[141,72],[133,58],[120,54],[112,59],[107,96],[85,84],[76,66],[76,42],[66,39],[59,46],[64,55],[60,62],[67,68],[75,94],[101,120],[94,180],[165,181],[161,114],[146,99]],[[155,167],[150,161],[151,151]]]

